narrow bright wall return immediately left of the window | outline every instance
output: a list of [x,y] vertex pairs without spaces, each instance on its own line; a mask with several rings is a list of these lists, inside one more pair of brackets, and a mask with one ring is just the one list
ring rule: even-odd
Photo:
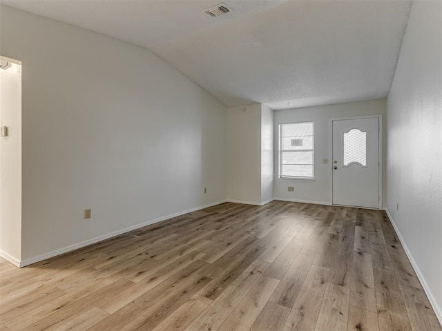
[[273,200],[273,110],[261,105],[261,203]]

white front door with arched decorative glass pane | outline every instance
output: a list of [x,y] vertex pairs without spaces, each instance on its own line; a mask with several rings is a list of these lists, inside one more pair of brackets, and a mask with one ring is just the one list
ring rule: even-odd
[[379,118],[332,121],[333,204],[379,208]]

